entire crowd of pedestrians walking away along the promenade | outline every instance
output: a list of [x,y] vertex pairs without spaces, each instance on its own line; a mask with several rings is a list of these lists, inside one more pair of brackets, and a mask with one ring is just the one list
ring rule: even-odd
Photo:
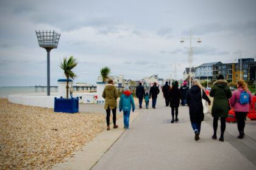
[[[183,83],[183,86],[179,89],[179,84],[177,81],[172,83],[172,87],[168,85],[166,81],[165,86],[163,86],[163,97],[165,97],[166,106],[171,107],[172,120],[179,121],[178,113],[179,106],[185,106],[187,103],[190,113],[191,126],[194,131],[194,139],[197,141],[200,139],[201,132],[201,123],[204,120],[203,104],[202,99],[208,102],[208,105],[211,104],[210,99],[205,94],[204,87],[201,85],[199,80],[194,79],[191,83],[191,88],[188,89],[187,83]],[[212,90],[210,91],[210,97],[213,97],[213,107],[212,107],[212,117],[213,117],[213,135],[214,140],[217,139],[217,129],[218,129],[218,120],[221,121],[221,135],[219,141],[224,141],[224,132],[226,130],[226,118],[230,110],[230,105],[235,111],[235,116],[237,120],[237,126],[239,135],[238,138],[244,137],[244,126],[245,126],[245,117],[249,112],[249,104],[252,103],[251,93],[247,89],[247,84],[243,80],[238,81],[238,89],[235,90],[232,94],[228,83],[224,80],[223,75],[219,75],[217,81],[213,83]],[[143,98],[145,99],[146,109],[149,106],[149,98],[152,98],[152,107],[155,109],[155,104],[157,101],[157,95],[160,90],[157,87],[157,84],[151,87],[148,92],[145,94],[144,87],[141,83],[136,87],[136,96],[139,100],[139,107],[142,108]],[[107,130],[110,129],[110,110],[113,112],[113,128],[117,128],[116,124],[116,99],[118,98],[118,92],[115,86],[113,86],[113,80],[108,80],[108,84],[105,87],[102,97],[105,98],[105,106],[107,112]],[[244,97],[244,98],[243,98]],[[243,100],[243,101],[242,101]],[[181,103],[180,103],[181,101]],[[129,117],[130,110],[132,112],[135,110],[135,104],[133,97],[130,93],[129,87],[125,87],[123,94],[121,95],[119,101],[119,111],[123,110],[124,113],[124,128],[129,129]]]

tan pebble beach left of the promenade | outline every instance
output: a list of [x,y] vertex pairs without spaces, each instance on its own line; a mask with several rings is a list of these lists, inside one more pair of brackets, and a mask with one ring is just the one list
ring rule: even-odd
[[105,114],[66,114],[0,98],[0,169],[51,169],[105,127]]

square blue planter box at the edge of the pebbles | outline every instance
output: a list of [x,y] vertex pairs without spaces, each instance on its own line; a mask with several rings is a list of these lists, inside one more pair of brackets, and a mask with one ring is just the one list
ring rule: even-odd
[[79,98],[54,98],[54,112],[74,114],[79,112]]

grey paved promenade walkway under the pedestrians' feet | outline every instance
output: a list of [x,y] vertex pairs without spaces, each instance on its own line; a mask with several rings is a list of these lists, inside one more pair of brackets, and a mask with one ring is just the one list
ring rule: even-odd
[[150,103],[148,110],[139,110],[130,129],[92,169],[256,169],[256,121],[246,121],[243,140],[236,138],[236,124],[227,123],[221,142],[212,140],[212,116],[206,115],[195,141],[187,106],[179,107],[177,123],[171,123],[162,97],[156,107]]

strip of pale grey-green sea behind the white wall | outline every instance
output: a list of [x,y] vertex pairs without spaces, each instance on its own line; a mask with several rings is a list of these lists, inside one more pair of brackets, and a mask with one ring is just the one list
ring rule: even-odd
[[[51,93],[57,93],[58,87],[51,87]],[[0,98],[7,98],[11,94],[47,94],[47,87],[0,87]]]

